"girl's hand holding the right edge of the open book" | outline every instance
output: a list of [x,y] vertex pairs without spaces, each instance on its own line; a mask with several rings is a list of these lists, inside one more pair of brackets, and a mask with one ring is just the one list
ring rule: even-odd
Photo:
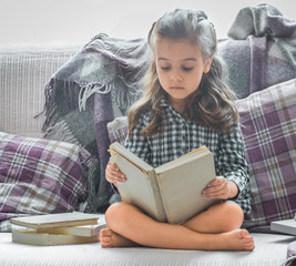
[[236,184],[227,181],[223,176],[217,176],[211,181],[206,188],[203,190],[203,195],[212,200],[227,200],[235,197],[238,193]]

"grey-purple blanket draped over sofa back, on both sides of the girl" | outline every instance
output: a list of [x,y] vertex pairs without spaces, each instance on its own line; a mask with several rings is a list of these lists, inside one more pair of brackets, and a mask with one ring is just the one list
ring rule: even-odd
[[[241,23],[247,10],[254,16]],[[238,13],[229,31],[234,39],[218,42],[218,54],[229,69],[229,85],[238,98],[296,76],[296,21],[278,13],[269,4],[247,8]],[[263,25],[258,34],[249,31],[254,23]],[[235,33],[241,30],[245,35],[238,38]],[[100,161],[98,178],[90,184],[93,212],[105,209],[112,194],[104,178],[110,144],[106,124],[126,115],[139,99],[139,81],[149,61],[145,39],[122,40],[101,33],[58,70],[45,88],[43,135],[78,143]]]

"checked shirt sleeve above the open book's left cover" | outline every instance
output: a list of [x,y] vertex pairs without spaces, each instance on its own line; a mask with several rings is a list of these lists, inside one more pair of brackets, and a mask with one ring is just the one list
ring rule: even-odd
[[151,151],[149,145],[149,139],[141,135],[141,132],[149,124],[149,119],[142,115],[139,124],[132,130],[131,137],[126,137],[124,146],[137,157],[142,158],[145,163],[151,163]]

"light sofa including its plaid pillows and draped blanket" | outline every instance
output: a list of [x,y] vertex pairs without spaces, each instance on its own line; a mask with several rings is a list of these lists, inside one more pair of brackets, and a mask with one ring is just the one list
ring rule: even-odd
[[[288,20],[287,35],[279,34],[287,21],[278,12],[243,9],[229,38],[218,42],[249,163],[253,209],[243,227],[255,239],[253,252],[13,243],[11,217],[81,211],[103,218],[113,201],[103,173],[108,146],[126,136],[126,113],[141,95],[150,54],[145,39],[105,34],[76,47],[0,48],[0,265],[293,263],[296,236],[271,231],[273,221],[296,213],[296,22]],[[254,21],[262,28],[247,32]]]

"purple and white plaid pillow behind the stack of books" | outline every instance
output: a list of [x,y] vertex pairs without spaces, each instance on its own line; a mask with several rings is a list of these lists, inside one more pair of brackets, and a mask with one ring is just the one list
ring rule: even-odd
[[71,143],[0,132],[0,222],[79,209],[90,158]]

